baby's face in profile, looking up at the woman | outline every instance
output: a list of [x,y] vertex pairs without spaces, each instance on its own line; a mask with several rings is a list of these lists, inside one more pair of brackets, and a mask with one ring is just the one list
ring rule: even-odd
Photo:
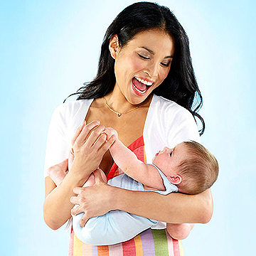
[[152,163],[156,165],[165,176],[175,176],[177,174],[178,164],[186,159],[187,157],[186,146],[181,143],[174,147],[174,149],[169,149],[165,146],[163,150],[156,153]]

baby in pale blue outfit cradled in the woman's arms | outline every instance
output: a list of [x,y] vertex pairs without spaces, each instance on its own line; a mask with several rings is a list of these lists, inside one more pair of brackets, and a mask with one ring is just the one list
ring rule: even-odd
[[[106,128],[104,133],[107,134],[107,139],[112,134],[116,136],[114,144],[110,147],[110,153],[119,169],[124,172],[107,182],[111,186],[133,191],[154,191],[163,195],[171,192],[196,194],[210,188],[218,177],[217,160],[197,142],[182,142],[174,149],[164,147],[156,153],[152,164],[144,164],[119,141],[114,129]],[[100,171],[105,177],[104,172]],[[49,175],[53,181],[60,182],[65,177],[65,171],[57,165],[50,169]],[[94,176],[91,175],[85,186],[92,186],[93,178]],[[122,210],[111,210],[105,215],[90,218],[85,227],[81,227],[82,214],[73,216],[73,229],[82,242],[91,245],[113,245],[124,242],[158,223],[156,220]],[[167,225],[167,231],[173,238],[186,238],[191,228],[193,224]],[[177,235],[177,233],[183,234]]]

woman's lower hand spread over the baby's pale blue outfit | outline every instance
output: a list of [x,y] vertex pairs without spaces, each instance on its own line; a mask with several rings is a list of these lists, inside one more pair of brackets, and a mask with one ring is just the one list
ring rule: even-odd
[[85,223],[87,223],[89,218],[103,215],[111,210],[110,202],[112,187],[103,181],[99,169],[93,174],[95,176],[95,185],[74,188],[73,192],[78,196],[70,198],[70,202],[76,204],[71,210],[71,213],[73,215],[84,213],[80,221],[81,227],[85,226]]

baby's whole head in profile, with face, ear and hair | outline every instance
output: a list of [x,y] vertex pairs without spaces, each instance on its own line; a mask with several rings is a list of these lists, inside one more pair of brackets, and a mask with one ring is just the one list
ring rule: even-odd
[[182,142],[174,149],[164,147],[152,163],[181,193],[201,193],[210,188],[218,177],[218,161],[198,142]]

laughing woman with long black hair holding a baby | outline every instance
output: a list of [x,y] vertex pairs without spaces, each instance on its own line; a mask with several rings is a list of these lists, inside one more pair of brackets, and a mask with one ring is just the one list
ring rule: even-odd
[[[183,140],[199,140],[193,117],[201,119],[204,129],[203,119],[196,113],[202,97],[188,38],[169,9],[147,2],[124,9],[107,29],[95,80],[78,95],[77,101],[58,107],[50,123],[46,170],[66,159],[71,147],[75,154],[60,186],[56,188],[46,174],[44,218],[50,228],[60,228],[70,218],[74,204],[79,206],[72,209],[73,214],[85,213],[81,225],[114,209],[166,223],[210,220],[213,203],[209,190],[196,196],[127,191],[108,186],[95,171],[100,166],[108,179],[119,174],[108,151],[113,138],[106,142],[102,134],[105,127],[116,129],[119,139],[145,162],[166,143],[173,147]],[[198,104],[193,102],[196,95]],[[192,104],[196,104],[195,110]],[[68,169],[67,161],[62,164]],[[93,171],[95,186],[81,188]],[[143,255],[181,255],[179,243],[164,229],[146,230],[133,240],[108,247],[85,245],[73,231],[70,236],[69,255],[142,255],[142,251]]]

